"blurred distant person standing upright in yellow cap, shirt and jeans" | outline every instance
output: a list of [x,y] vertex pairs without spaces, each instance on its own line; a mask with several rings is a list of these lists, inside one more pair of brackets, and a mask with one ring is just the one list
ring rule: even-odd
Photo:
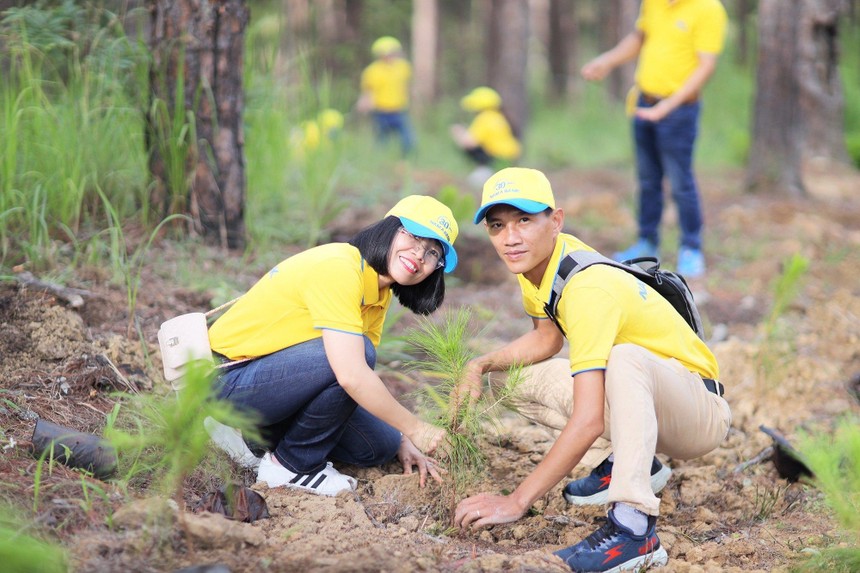
[[400,137],[400,149],[408,155],[415,147],[409,122],[409,86],[412,65],[403,57],[397,38],[383,36],[371,46],[374,61],[361,74],[361,96],[356,108],[371,113],[377,139]]

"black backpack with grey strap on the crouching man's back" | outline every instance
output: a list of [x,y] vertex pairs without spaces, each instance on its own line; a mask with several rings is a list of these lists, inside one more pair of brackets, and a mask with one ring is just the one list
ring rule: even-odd
[[552,293],[550,294],[549,302],[544,305],[543,309],[550,320],[561,331],[562,336],[567,335],[556,317],[561,292],[564,290],[567,281],[573,278],[573,275],[591,265],[609,265],[632,274],[668,300],[675,310],[678,311],[678,314],[687,321],[690,328],[699,335],[699,338],[702,340],[705,339],[699,309],[696,308],[696,303],[693,301],[693,293],[690,292],[690,287],[687,286],[687,281],[684,280],[684,277],[672,271],[661,269],[659,261],[653,257],[644,257],[619,263],[594,251],[573,251],[568,253],[558,266],[558,273],[555,275],[555,280],[552,283]]

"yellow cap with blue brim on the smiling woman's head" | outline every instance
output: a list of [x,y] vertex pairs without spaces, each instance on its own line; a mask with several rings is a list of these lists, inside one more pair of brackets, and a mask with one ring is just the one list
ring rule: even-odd
[[385,216],[400,219],[403,228],[416,237],[435,239],[442,243],[446,273],[457,267],[454,241],[460,229],[447,205],[427,195],[410,195],[398,201]]

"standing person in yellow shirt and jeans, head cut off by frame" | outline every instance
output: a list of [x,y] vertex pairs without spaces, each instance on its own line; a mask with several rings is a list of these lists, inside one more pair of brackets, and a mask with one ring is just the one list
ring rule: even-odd
[[639,238],[616,260],[657,256],[663,214],[663,178],[678,209],[681,244],[677,271],[705,273],[702,211],[693,174],[699,97],[723,49],[726,10],[719,0],[643,0],[636,29],[582,68],[586,80],[602,80],[613,68],[639,57],[633,135],[639,177]]

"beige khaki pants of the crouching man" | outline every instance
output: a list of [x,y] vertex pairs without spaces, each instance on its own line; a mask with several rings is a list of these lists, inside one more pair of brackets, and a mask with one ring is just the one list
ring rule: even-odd
[[[491,387],[503,377],[493,373]],[[552,358],[525,366],[521,378],[512,400],[516,411],[557,435],[573,411],[569,362]],[[605,429],[580,463],[595,467],[614,452],[608,503],[659,515],[660,500],[651,491],[654,454],[686,460],[710,452],[728,434],[729,405],[677,360],[634,344],[613,347],[605,388]]]

